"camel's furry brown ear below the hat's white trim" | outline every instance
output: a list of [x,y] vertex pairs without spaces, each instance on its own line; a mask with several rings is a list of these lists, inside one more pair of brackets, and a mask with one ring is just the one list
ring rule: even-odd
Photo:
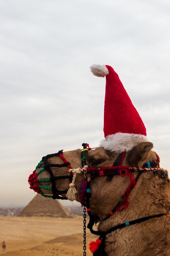
[[142,167],[146,162],[150,150],[153,148],[151,142],[141,142],[127,153],[129,166]]

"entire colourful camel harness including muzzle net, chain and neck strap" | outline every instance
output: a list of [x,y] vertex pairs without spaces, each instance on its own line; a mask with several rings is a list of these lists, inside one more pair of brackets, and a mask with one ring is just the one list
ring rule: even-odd
[[[128,202],[127,198],[129,196],[131,190],[134,188],[135,184],[137,183],[137,180],[139,179],[139,177],[141,176],[141,174],[143,172],[152,171],[152,172],[159,173],[160,178],[165,178],[166,174],[159,167],[158,156],[157,156],[157,161],[156,162],[146,162],[143,165],[142,168],[122,166],[121,164],[123,162],[123,158],[125,157],[126,152],[122,152],[121,154],[119,154],[119,156],[117,157],[117,159],[113,163],[113,166],[90,168],[90,167],[86,166],[86,157],[88,155],[88,151],[91,150],[91,148],[89,148],[89,145],[86,144],[86,143],[82,144],[82,146],[83,146],[83,149],[81,150],[81,161],[82,161],[81,172],[84,173],[84,179],[82,180],[81,187],[80,187],[80,198],[82,200],[81,201],[82,206],[84,206],[84,208],[86,207],[88,215],[90,217],[87,227],[90,229],[90,232],[92,234],[96,234],[96,235],[100,236],[96,240],[96,242],[91,242],[89,248],[90,248],[91,252],[94,253],[93,254],[94,256],[105,255],[105,253],[104,253],[104,241],[105,241],[105,238],[106,238],[106,234],[109,234],[110,232],[112,232],[112,231],[114,231],[118,228],[123,228],[125,226],[129,226],[129,225],[132,225],[132,224],[136,224],[136,223],[140,223],[140,222],[149,220],[150,218],[156,218],[156,217],[160,217],[160,216],[163,216],[163,215],[167,216],[169,213],[162,213],[162,214],[157,214],[157,215],[153,215],[153,216],[147,216],[147,217],[144,217],[144,218],[139,218],[137,220],[132,220],[132,221],[129,221],[129,222],[125,222],[123,224],[117,225],[117,226],[107,230],[106,232],[101,232],[100,230],[98,230],[98,231],[93,230],[94,224],[97,223],[97,222],[100,222],[100,221],[104,221],[104,220],[110,218],[111,216],[113,216],[113,214],[116,211],[120,212],[123,209],[126,209],[128,207],[129,202]],[[63,164],[48,163],[48,159],[52,158],[53,156],[59,156],[63,160]],[[54,176],[53,171],[51,170],[51,168],[61,168],[61,167],[69,168],[70,169],[69,170],[70,174],[65,175],[65,176]],[[39,168],[39,170],[38,170],[38,172],[36,172],[36,170],[38,168]],[[49,173],[50,178],[48,178],[48,179],[39,179],[38,180],[39,174],[41,172],[43,172],[44,170],[46,170]],[[58,153],[55,153],[55,154],[49,154],[47,156],[44,156],[42,158],[42,160],[39,162],[39,164],[37,165],[36,169],[33,171],[33,174],[31,174],[29,176],[28,182],[30,184],[30,188],[33,189],[34,191],[36,191],[37,193],[40,193],[42,196],[45,196],[45,197],[51,197],[53,199],[68,199],[65,196],[60,196],[59,195],[59,194],[65,194],[66,192],[68,192],[68,189],[62,190],[62,191],[58,190],[56,188],[55,180],[68,179],[69,184],[71,184],[72,180],[73,180],[73,176],[74,176],[72,174],[73,173],[72,170],[75,170],[75,169],[72,169],[71,166],[70,166],[70,163],[67,162],[66,159],[63,157],[63,150],[60,150]],[[138,172],[136,178],[133,175],[133,172]],[[90,176],[86,177],[87,173],[90,174]],[[90,197],[91,197],[90,184],[91,184],[91,180],[95,177],[98,177],[98,176],[107,176],[106,180],[108,182],[110,182],[114,175],[120,175],[121,177],[124,177],[126,175],[129,176],[130,184],[129,184],[127,190],[124,192],[123,196],[120,198],[117,205],[113,208],[113,210],[111,210],[111,212],[109,212],[109,214],[106,218],[101,220],[97,215],[92,214],[91,209],[90,209]],[[39,182],[51,182],[52,186],[51,187],[42,186],[42,185],[39,184]],[[51,190],[53,195],[43,194],[43,192],[41,192],[41,188]],[[85,200],[85,198],[86,198],[86,200]],[[86,241],[85,241],[84,244],[86,244]],[[84,246],[84,247],[86,248],[86,246]],[[84,252],[84,255],[86,255],[86,252]]]

